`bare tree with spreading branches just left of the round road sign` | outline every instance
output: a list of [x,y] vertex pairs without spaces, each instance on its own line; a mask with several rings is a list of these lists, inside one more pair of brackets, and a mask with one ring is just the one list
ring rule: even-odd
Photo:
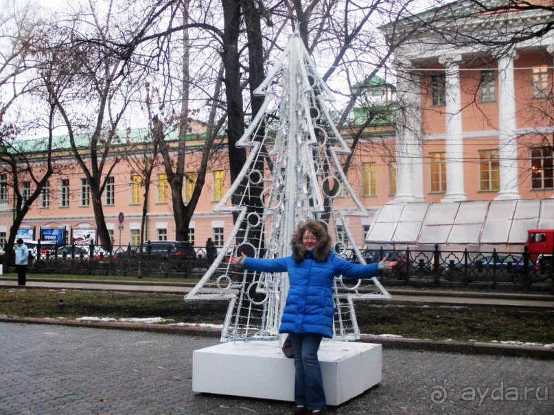
[[[126,152],[127,132],[118,132],[118,128],[145,74],[138,69],[129,69],[124,74],[124,62],[111,49],[82,43],[82,31],[93,31],[108,43],[114,27],[124,26],[122,21],[115,21],[112,2],[109,5],[102,15],[91,3],[91,19],[76,16],[70,25],[60,27],[58,33],[65,36],[60,36],[55,48],[65,56],[65,62],[60,62],[58,67],[65,88],[54,95],[73,156],[89,182],[97,233],[107,250],[112,243],[104,220],[102,193],[111,172]],[[83,147],[90,150],[89,154],[84,154]]]

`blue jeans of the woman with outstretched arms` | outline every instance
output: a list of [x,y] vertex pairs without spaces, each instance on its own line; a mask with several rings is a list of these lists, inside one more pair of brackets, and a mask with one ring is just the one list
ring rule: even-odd
[[323,336],[314,333],[289,333],[295,353],[295,403],[308,410],[326,408],[325,390],[317,351]]

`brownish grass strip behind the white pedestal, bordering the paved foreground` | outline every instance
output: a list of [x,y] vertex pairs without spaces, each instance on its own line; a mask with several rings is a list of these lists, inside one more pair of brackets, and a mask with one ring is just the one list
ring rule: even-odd
[[[64,307],[58,309],[58,301]],[[182,295],[0,287],[0,314],[36,318],[154,318],[222,324],[227,301],[187,301]],[[554,310],[497,306],[356,303],[360,332],[430,340],[554,343]]]

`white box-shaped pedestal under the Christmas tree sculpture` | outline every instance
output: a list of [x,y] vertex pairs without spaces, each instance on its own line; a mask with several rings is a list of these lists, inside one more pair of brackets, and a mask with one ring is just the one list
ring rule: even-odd
[[[323,341],[319,348],[327,405],[341,405],[381,381],[380,344]],[[192,354],[192,390],[295,400],[295,366],[277,341],[228,342]]]

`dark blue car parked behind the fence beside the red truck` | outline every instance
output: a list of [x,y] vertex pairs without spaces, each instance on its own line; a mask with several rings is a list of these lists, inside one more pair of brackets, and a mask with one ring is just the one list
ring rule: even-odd
[[[529,272],[536,272],[540,268],[532,261],[529,261]],[[487,255],[478,257],[468,263],[467,270],[465,263],[456,263],[453,267],[445,268],[442,276],[450,281],[463,281],[467,274],[468,282],[471,281],[492,281],[496,273],[497,281],[510,281],[520,284],[524,274],[524,262],[516,255]]]

